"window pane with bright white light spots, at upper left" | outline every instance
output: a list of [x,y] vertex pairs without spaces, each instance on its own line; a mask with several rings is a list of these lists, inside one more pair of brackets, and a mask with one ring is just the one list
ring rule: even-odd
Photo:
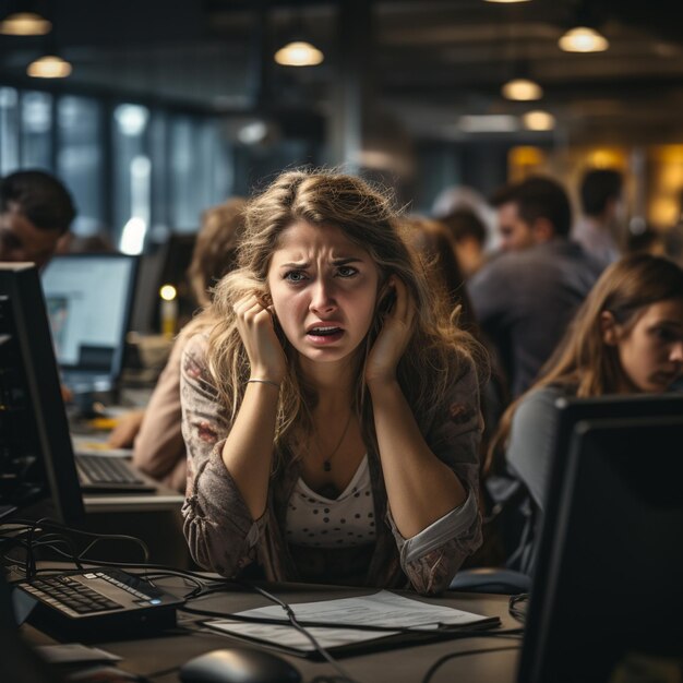
[[113,110],[113,227],[115,239],[125,253],[141,253],[149,228],[152,160],[149,109],[121,104]]

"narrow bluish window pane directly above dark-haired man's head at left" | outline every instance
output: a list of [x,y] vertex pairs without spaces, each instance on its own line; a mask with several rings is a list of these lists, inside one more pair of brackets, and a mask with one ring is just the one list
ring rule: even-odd
[[52,170],[52,96],[26,92],[21,97],[22,168]]

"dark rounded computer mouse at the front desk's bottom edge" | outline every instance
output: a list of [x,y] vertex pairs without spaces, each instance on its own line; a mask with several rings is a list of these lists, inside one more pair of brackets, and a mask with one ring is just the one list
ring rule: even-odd
[[250,647],[212,650],[180,668],[182,683],[301,683],[286,659]]

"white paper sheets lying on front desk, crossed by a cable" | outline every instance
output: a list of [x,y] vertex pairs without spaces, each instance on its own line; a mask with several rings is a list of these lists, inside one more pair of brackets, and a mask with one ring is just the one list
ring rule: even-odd
[[[348,626],[368,625],[384,626],[387,631],[352,631],[347,628],[328,628],[307,626],[323,647],[334,647],[351,643],[362,643],[388,635],[395,635],[394,628],[411,627],[415,630],[433,631],[440,625],[464,626],[488,621],[487,616],[464,612],[451,607],[428,604],[411,598],[398,596],[388,590],[381,590],[371,596],[342,598],[339,600],[321,600],[290,604],[299,622],[327,622]],[[254,610],[238,612],[239,616],[276,619],[287,623],[287,615],[278,606],[262,607]],[[255,624],[233,620],[212,620],[207,622],[213,628],[226,631],[233,635],[242,635],[293,647],[301,650],[315,649],[311,642],[290,625]],[[327,640],[327,638],[329,638]],[[286,640],[286,642],[285,642]]]

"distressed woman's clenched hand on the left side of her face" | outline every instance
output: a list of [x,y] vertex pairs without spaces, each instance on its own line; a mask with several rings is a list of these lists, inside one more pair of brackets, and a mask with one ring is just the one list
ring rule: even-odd
[[287,372],[287,357],[275,334],[273,307],[264,305],[252,293],[235,304],[235,315],[251,364],[251,376],[279,384]]

